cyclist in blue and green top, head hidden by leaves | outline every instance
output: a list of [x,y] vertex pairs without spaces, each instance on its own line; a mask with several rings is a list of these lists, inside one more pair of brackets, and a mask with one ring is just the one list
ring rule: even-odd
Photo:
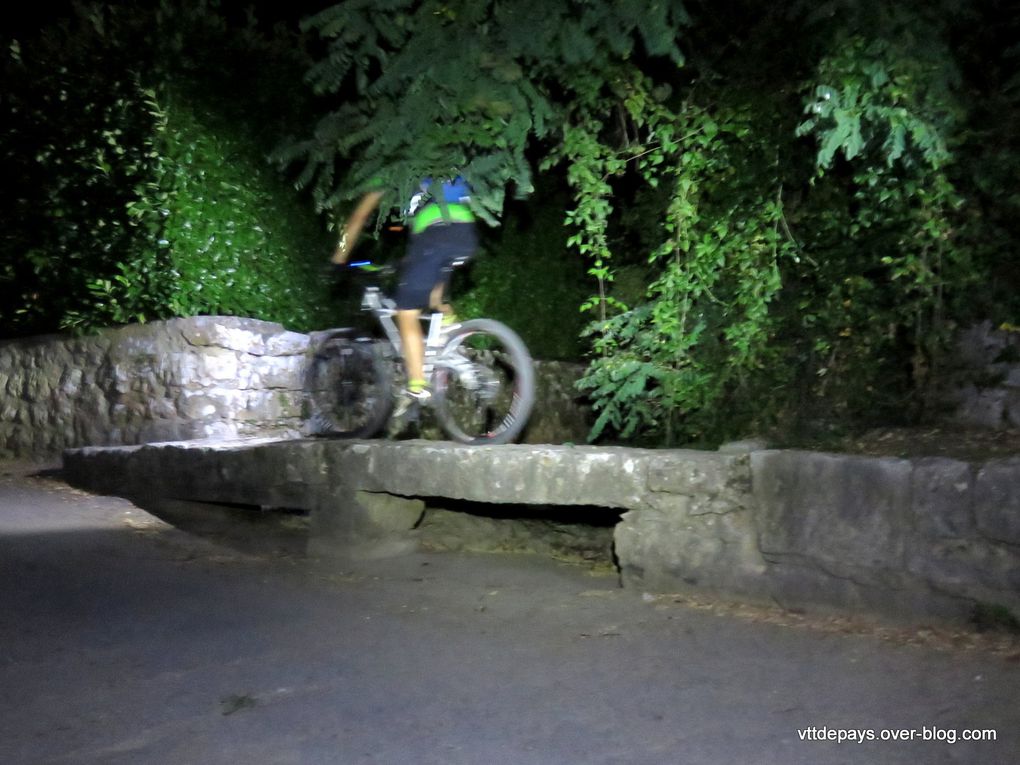
[[[431,397],[423,370],[425,341],[421,311],[424,308],[439,310],[450,323],[454,321],[445,297],[450,272],[454,263],[474,255],[478,244],[469,205],[470,190],[462,177],[440,184],[425,178],[420,188],[408,206],[410,238],[394,296],[407,370],[407,389],[398,402],[398,415],[410,404],[424,403]],[[332,258],[334,263],[347,262],[365,221],[381,197],[381,192],[372,191],[358,202],[337,245]]]

